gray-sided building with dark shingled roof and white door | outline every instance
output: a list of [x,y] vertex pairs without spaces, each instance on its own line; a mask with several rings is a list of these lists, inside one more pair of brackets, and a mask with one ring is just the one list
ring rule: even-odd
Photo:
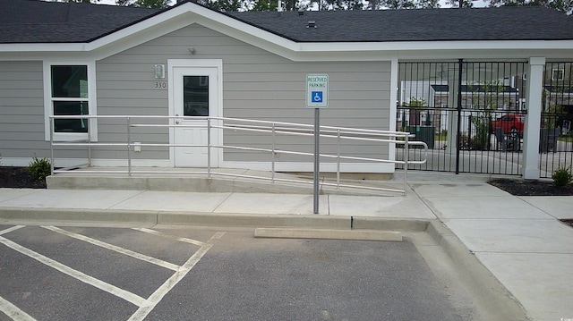
[[[214,117],[211,144],[238,147],[218,148],[210,155],[211,166],[266,169],[268,156],[241,147],[268,147],[269,141],[217,129],[217,117],[312,124],[306,75],[328,74],[329,106],[321,124],[395,131],[398,63],[417,61],[526,62],[527,130],[538,132],[543,66],[573,57],[573,20],[543,7],[220,13],[192,2],[158,11],[0,0],[0,15],[3,165],[50,156],[51,139],[110,144],[130,135],[134,144],[141,143],[129,156],[134,165],[205,166],[204,153],[191,146],[204,143],[206,130],[171,125],[207,121],[175,118],[184,115]],[[51,122],[51,115],[101,118]],[[165,127],[127,132],[125,118],[117,115],[143,116],[133,122]],[[536,136],[524,143],[526,151],[531,144],[531,156],[524,156],[526,176],[538,175]],[[312,139],[277,139],[278,149],[312,151]],[[324,149],[336,152],[329,144]],[[111,145],[94,146],[90,153],[93,165],[100,166],[122,166],[128,157]],[[346,153],[393,159],[396,150],[393,144],[356,144]],[[85,157],[85,148],[63,148],[56,165]],[[277,166],[308,171],[312,160],[284,155]],[[328,164],[323,168],[333,170]],[[343,171],[393,173],[394,165],[347,161]]]

